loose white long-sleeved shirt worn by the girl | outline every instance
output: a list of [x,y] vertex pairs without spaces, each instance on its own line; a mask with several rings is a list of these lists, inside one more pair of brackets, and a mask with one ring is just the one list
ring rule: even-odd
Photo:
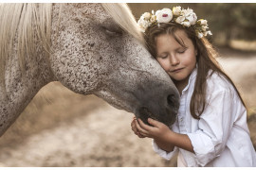
[[247,110],[228,80],[214,73],[207,79],[206,106],[200,119],[194,119],[190,103],[197,69],[182,91],[174,132],[187,134],[195,152],[174,147],[153,148],[161,157],[170,160],[178,152],[178,166],[256,166],[256,153],[247,127]]

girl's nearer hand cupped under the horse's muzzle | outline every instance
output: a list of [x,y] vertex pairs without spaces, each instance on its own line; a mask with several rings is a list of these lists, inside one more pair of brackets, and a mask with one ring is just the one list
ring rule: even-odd
[[151,126],[144,124],[140,119],[138,119],[136,124],[136,129],[143,137],[154,138],[157,141],[168,141],[170,136],[174,133],[169,127],[165,124],[158,122],[154,119],[149,118],[148,122]]

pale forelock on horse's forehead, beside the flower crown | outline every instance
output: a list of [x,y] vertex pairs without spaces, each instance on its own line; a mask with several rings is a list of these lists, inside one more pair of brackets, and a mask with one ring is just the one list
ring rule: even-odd
[[134,36],[139,42],[144,44],[144,38],[137,26],[134,15],[127,4],[123,3],[102,3],[102,7],[113,18],[113,20],[125,31]]

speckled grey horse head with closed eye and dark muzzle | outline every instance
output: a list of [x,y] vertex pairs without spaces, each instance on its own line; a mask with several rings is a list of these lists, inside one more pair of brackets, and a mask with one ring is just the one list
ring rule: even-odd
[[171,126],[179,94],[143,45],[126,5],[56,4],[52,13],[51,68],[76,93]]

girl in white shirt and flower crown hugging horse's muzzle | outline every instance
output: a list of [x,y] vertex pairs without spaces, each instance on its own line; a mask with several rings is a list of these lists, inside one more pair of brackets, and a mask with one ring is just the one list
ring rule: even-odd
[[138,25],[181,96],[172,129],[134,118],[135,134],[152,138],[155,152],[167,160],[178,152],[178,166],[256,166],[245,103],[204,38],[211,35],[207,21],[197,20],[190,8],[175,7],[146,12]]

